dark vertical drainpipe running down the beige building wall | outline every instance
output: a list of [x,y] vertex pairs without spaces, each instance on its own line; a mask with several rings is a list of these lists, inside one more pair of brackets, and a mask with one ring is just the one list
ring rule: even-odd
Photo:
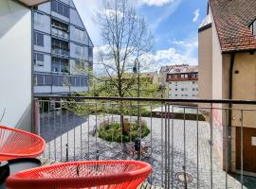
[[[235,60],[235,53],[231,53],[231,58],[230,58],[230,67],[229,67],[229,99],[233,98],[233,69],[234,69],[234,60]],[[231,130],[232,130],[232,104],[229,104],[229,128],[228,128],[228,136],[229,136],[229,154],[228,154],[228,171],[231,170]]]

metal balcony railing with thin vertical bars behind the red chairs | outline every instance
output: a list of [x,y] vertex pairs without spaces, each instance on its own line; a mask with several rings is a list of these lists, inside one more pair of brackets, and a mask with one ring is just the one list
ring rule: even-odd
[[45,158],[145,161],[162,188],[253,188],[255,119],[247,100],[35,98]]

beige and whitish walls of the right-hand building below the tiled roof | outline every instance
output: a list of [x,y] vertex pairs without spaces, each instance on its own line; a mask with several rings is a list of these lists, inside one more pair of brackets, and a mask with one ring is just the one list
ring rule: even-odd
[[[213,21],[210,11],[211,20]],[[231,54],[223,54],[218,40],[217,30],[212,22],[212,65],[205,63],[203,60],[208,60],[210,56],[210,29],[199,33],[199,97],[204,98],[210,96],[210,93],[205,92],[207,89],[206,83],[210,83],[211,79],[211,97],[212,99],[229,99],[229,69]],[[209,32],[209,33],[208,33]],[[206,50],[207,49],[207,50]],[[210,61],[210,60],[208,60]],[[212,72],[209,74],[209,70]],[[203,73],[202,73],[203,72]],[[208,77],[210,76],[210,77]],[[233,67],[233,84],[232,84],[232,99],[256,99],[256,54],[248,52],[240,52],[235,54]],[[228,108],[228,105],[214,105],[215,108]],[[233,105],[231,116],[231,165],[232,171],[236,171],[236,127],[256,128],[256,111],[245,111],[245,109],[256,110],[255,106],[248,105]],[[237,110],[236,110],[237,109]],[[243,123],[242,123],[242,111]],[[228,110],[218,111],[213,109],[213,144],[214,148],[220,154],[222,165],[226,167],[226,130],[228,126],[229,112]]]

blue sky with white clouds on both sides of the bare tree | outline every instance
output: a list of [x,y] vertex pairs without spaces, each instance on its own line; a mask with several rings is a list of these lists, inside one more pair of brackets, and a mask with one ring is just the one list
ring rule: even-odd
[[[93,15],[103,9],[103,0],[73,0],[81,14],[84,26],[95,45],[101,48],[99,26]],[[137,11],[145,17],[155,37],[155,46],[149,55],[148,71],[161,66],[188,63],[198,64],[198,26],[207,13],[207,0],[137,0]],[[97,57],[97,55],[95,55]]]

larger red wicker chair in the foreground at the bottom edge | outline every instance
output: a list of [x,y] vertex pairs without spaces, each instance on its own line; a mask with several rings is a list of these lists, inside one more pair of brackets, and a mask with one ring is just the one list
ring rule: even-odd
[[150,164],[137,161],[59,163],[11,175],[6,183],[9,189],[136,189],[151,170]]

